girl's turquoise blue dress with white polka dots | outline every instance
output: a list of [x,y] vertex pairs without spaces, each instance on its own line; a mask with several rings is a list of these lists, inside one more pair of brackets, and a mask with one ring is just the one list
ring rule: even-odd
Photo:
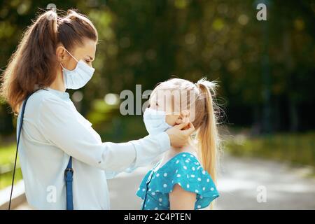
[[137,191],[137,196],[144,200],[143,210],[169,210],[169,193],[175,184],[196,193],[195,209],[208,207],[219,197],[211,176],[192,153],[179,153],[157,171],[155,167],[144,176]]

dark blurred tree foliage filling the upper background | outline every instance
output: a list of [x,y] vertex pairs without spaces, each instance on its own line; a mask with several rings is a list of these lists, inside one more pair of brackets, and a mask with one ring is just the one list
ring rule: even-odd
[[[92,101],[108,92],[134,91],[136,84],[152,90],[172,75],[193,81],[207,76],[221,85],[218,103],[225,107],[226,123],[252,125],[259,134],[267,106],[272,130],[312,129],[315,3],[264,2],[265,22],[256,20],[258,1],[0,1],[0,68],[6,67],[22,32],[41,12],[38,8],[55,3],[59,10],[78,8],[99,31],[96,72],[82,89],[80,102],[80,112],[92,114],[95,122],[110,119],[100,118]],[[2,134],[13,132],[8,111],[2,104]],[[121,117],[113,123],[127,121]]]

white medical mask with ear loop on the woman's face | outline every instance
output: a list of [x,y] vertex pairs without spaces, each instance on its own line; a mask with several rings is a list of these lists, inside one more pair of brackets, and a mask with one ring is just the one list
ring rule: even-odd
[[[66,48],[64,48],[66,50]],[[70,54],[68,50],[66,52]],[[71,55],[73,57],[73,55]],[[85,84],[92,78],[93,73],[95,71],[94,68],[88,66],[82,59],[78,61],[75,57],[73,59],[78,62],[76,64],[76,68],[73,70],[68,70],[62,66],[62,74],[64,77],[64,87],[66,89],[78,90],[81,87],[85,86]]]

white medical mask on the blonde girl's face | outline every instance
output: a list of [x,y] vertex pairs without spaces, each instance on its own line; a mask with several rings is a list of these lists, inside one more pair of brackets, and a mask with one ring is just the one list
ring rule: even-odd
[[167,124],[165,111],[156,111],[151,108],[147,108],[144,111],[144,125],[149,134],[158,134],[165,132],[172,126]]

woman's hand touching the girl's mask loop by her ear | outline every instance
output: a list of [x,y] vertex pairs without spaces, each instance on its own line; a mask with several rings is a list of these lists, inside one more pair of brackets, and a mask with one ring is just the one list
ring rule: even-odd
[[174,148],[183,147],[186,145],[190,134],[195,131],[195,127],[192,123],[181,123],[167,130],[171,146]]

